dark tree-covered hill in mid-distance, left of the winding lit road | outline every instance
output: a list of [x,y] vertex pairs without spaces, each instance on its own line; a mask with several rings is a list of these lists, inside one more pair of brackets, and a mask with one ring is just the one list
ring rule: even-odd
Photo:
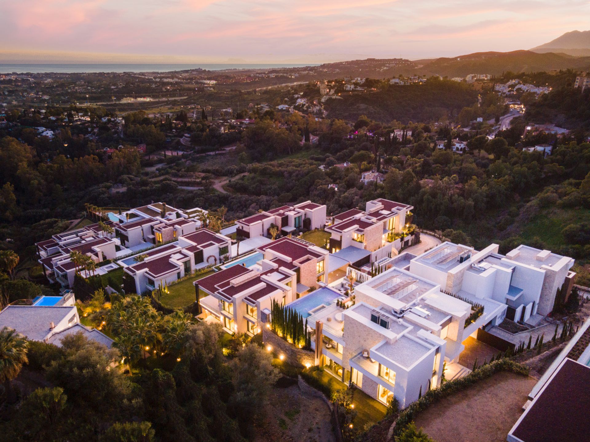
[[391,85],[385,90],[342,97],[326,100],[328,118],[356,121],[366,115],[381,123],[398,120],[407,124],[456,115],[463,107],[476,103],[477,91],[456,81],[429,80],[421,85]]

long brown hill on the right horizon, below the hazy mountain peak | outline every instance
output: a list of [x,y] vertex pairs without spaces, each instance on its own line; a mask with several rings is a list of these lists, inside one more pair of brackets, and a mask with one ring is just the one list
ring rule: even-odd
[[465,77],[468,74],[501,75],[502,72],[542,72],[559,69],[590,68],[590,57],[565,54],[538,54],[532,51],[476,52],[454,58],[437,58],[424,64],[420,72],[442,77]]

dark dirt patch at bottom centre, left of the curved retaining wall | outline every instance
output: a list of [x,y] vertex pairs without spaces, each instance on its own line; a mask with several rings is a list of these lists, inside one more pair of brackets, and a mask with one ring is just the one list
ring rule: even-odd
[[274,388],[254,442],[279,441],[335,442],[327,404],[304,395],[297,385]]

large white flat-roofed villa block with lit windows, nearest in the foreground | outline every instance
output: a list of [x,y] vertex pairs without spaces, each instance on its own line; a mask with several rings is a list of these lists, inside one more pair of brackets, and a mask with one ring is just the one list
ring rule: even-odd
[[498,248],[445,242],[419,256],[383,258],[376,275],[349,267],[358,282],[352,292],[342,282],[322,286],[289,308],[312,329],[316,365],[384,404],[395,395],[404,407],[440,385],[442,363],[458,361],[465,339],[493,335],[506,317],[536,324],[558,290],[571,290],[573,259]]

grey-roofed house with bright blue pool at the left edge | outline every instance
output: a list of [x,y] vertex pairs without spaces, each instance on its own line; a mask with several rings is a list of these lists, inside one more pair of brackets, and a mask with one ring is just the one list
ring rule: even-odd
[[80,323],[74,293],[63,296],[38,296],[21,299],[0,312],[0,329],[12,328],[32,341],[48,342],[61,347],[61,339],[81,333],[88,339],[111,347],[110,339],[95,328]]

